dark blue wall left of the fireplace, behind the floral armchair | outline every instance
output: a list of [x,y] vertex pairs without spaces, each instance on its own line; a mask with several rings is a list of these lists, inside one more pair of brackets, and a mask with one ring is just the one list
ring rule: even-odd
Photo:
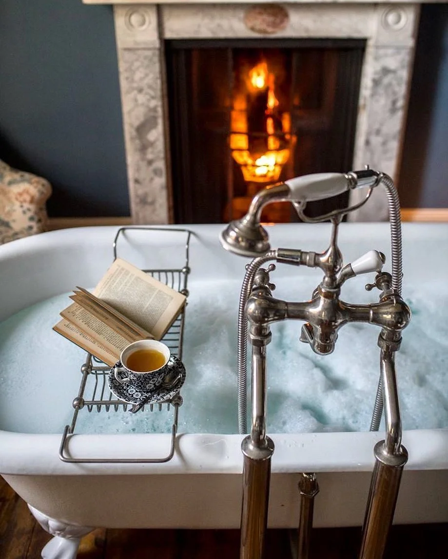
[[129,215],[110,6],[1,0],[0,159],[49,179],[51,216]]

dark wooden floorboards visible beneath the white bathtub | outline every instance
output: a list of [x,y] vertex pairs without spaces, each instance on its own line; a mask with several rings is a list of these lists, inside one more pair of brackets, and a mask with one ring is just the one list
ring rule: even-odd
[[[47,534],[0,477],[0,559],[40,559]],[[268,530],[265,559],[292,559],[293,530]],[[360,528],[314,529],[310,559],[356,559]],[[238,559],[239,530],[98,528],[82,538],[78,559]],[[448,557],[448,524],[394,526],[384,559]]]

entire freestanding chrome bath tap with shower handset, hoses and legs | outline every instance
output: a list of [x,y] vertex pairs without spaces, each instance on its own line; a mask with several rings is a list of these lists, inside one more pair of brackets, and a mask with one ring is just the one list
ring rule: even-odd
[[[365,203],[378,184],[383,183],[389,198],[392,241],[392,275],[383,272],[383,253],[371,250],[351,264],[343,266],[337,244],[338,227],[343,215]],[[364,201],[352,207],[335,210],[318,218],[308,218],[306,202],[337,195],[352,188],[368,189]],[[327,250],[322,253],[297,249],[271,249],[268,236],[260,224],[262,208],[270,202],[289,200],[304,221],[331,220],[332,234]],[[281,320],[304,321],[300,340],[308,343],[315,353],[330,354],[336,344],[338,330],[352,322],[374,324],[381,328],[380,382],[376,394],[371,430],[378,430],[384,416],[386,437],[376,444],[375,470],[372,476],[369,502],[363,529],[360,559],[380,559],[392,524],[399,482],[407,451],[401,444],[401,421],[395,381],[394,352],[400,347],[402,330],[411,318],[411,311],[403,301],[401,230],[398,196],[392,179],[383,173],[366,168],[359,172],[323,173],[298,177],[267,187],[252,200],[251,206],[239,221],[233,221],[221,234],[224,248],[240,255],[255,256],[247,266],[239,304],[238,318],[238,423],[239,432],[247,433],[247,338],[252,344],[251,375],[251,430],[243,439],[243,507],[241,523],[241,559],[260,559],[266,530],[272,440],[266,435],[267,371],[266,346],[271,340],[270,324]],[[312,297],[305,302],[289,302],[272,295],[275,286],[270,274],[275,261],[293,266],[319,268],[322,281]],[[341,300],[341,286],[351,277],[376,272],[375,283],[366,289],[378,288],[379,301],[373,304],[350,304]],[[313,499],[318,492],[314,474],[304,472],[299,482],[301,515],[299,523],[298,559],[309,553],[309,530],[312,527]]]

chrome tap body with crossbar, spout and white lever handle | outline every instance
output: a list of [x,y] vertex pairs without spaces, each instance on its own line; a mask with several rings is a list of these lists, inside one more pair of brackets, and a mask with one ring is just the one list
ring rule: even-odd
[[[314,290],[312,299],[306,302],[287,302],[275,299],[264,289],[254,288],[246,304],[246,316],[251,325],[251,333],[263,330],[268,324],[279,320],[304,320],[300,341],[309,343],[315,353],[332,353],[338,330],[352,322],[362,322],[381,326],[385,332],[398,334],[407,326],[411,311],[398,293],[392,290],[392,276],[381,272],[385,262],[384,254],[370,250],[351,264],[342,268],[341,253],[336,244],[337,222],[333,222],[332,242],[322,254],[301,250],[277,249],[276,262],[305,265],[320,268],[324,277]],[[342,269],[341,269],[342,268]],[[353,305],[339,299],[341,285],[348,278],[361,273],[378,272],[371,290],[378,287],[380,301],[371,305]],[[254,334],[249,334],[253,339]],[[396,337],[396,336],[394,336]]]

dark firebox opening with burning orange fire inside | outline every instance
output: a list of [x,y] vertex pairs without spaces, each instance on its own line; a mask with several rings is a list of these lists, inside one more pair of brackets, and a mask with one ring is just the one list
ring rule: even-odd
[[[166,41],[176,223],[238,219],[294,176],[351,169],[364,40]],[[347,195],[309,203],[320,215]],[[263,221],[297,221],[268,206]]]

